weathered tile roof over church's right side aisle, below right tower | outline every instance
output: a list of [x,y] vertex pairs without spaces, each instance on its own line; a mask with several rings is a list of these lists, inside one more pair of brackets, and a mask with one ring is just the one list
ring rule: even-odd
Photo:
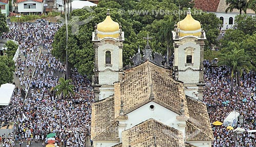
[[[186,96],[188,112],[189,112],[189,119],[188,119],[188,126],[190,128],[186,128],[188,134],[193,133],[195,129],[198,129],[200,135],[205,134],[205,139],[212,139],[214,135],[212,134],[212,129],[210,126],[209,115],[207,112],[206,105],[194,98]],[[191,125],[190,125],[191,124]],[[188,130],[187,130],[188,129]],[[202,133],[201,133],[202,132]],[[187,139],[193,139],[191,136],[186,136]],[[202,137],[195,136],[195,139],[202,139]]]

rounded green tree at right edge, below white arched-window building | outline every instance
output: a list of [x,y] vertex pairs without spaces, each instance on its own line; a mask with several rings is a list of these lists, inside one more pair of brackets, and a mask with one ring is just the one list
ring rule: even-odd
[[256,16],[251,15],[237,15],[234,19],[234,27],[243,31],[245,34],[252,35],[256,32]]

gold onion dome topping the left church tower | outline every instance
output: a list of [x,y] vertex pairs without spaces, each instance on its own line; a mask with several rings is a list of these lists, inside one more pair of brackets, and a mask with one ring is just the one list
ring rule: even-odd
[[118,38],[119,36],[119,24],[113,21],[110,17],[110,10],[106,13],[104,21],[97,24],[98,37],[113,37]]

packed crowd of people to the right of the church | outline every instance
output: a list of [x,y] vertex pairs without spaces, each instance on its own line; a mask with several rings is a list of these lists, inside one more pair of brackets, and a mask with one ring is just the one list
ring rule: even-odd
[[228,67],[211,67],[206,64],[204,74],[206,85],[203,101],[208,107],[211,123],[223,122],[229,112],[238,111],[241,115],[240,118],[242,118],[239,119],[239,126],[246,131],[239,134],[224,126],[212,125],[215,136],[212,146],[252,147],[253,138],[249,137],[247,130],[256,129],[256,73],[253,71],[244,72],[240,81],[235,77],[232,95],[229,76],[230,69]]

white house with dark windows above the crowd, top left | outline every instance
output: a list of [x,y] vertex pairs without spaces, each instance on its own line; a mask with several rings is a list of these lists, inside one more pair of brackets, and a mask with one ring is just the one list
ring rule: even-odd
[[18,13],[42,14],[44,12],[44,0],[17,0]]

